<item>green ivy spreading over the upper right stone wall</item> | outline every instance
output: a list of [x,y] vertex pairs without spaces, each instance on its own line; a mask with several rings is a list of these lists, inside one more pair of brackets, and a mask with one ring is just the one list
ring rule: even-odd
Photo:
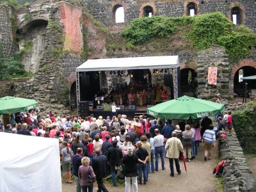
[[179,28],[183,38],[197,51],[214,44],[225,47],[231,63],[250,54],[256,34],[245,26],[233,26],[223,13],[206,13],[196,17],[142,17],[134,19],[121,35],[132,45],[145,44],[154,38],[170,38]]

